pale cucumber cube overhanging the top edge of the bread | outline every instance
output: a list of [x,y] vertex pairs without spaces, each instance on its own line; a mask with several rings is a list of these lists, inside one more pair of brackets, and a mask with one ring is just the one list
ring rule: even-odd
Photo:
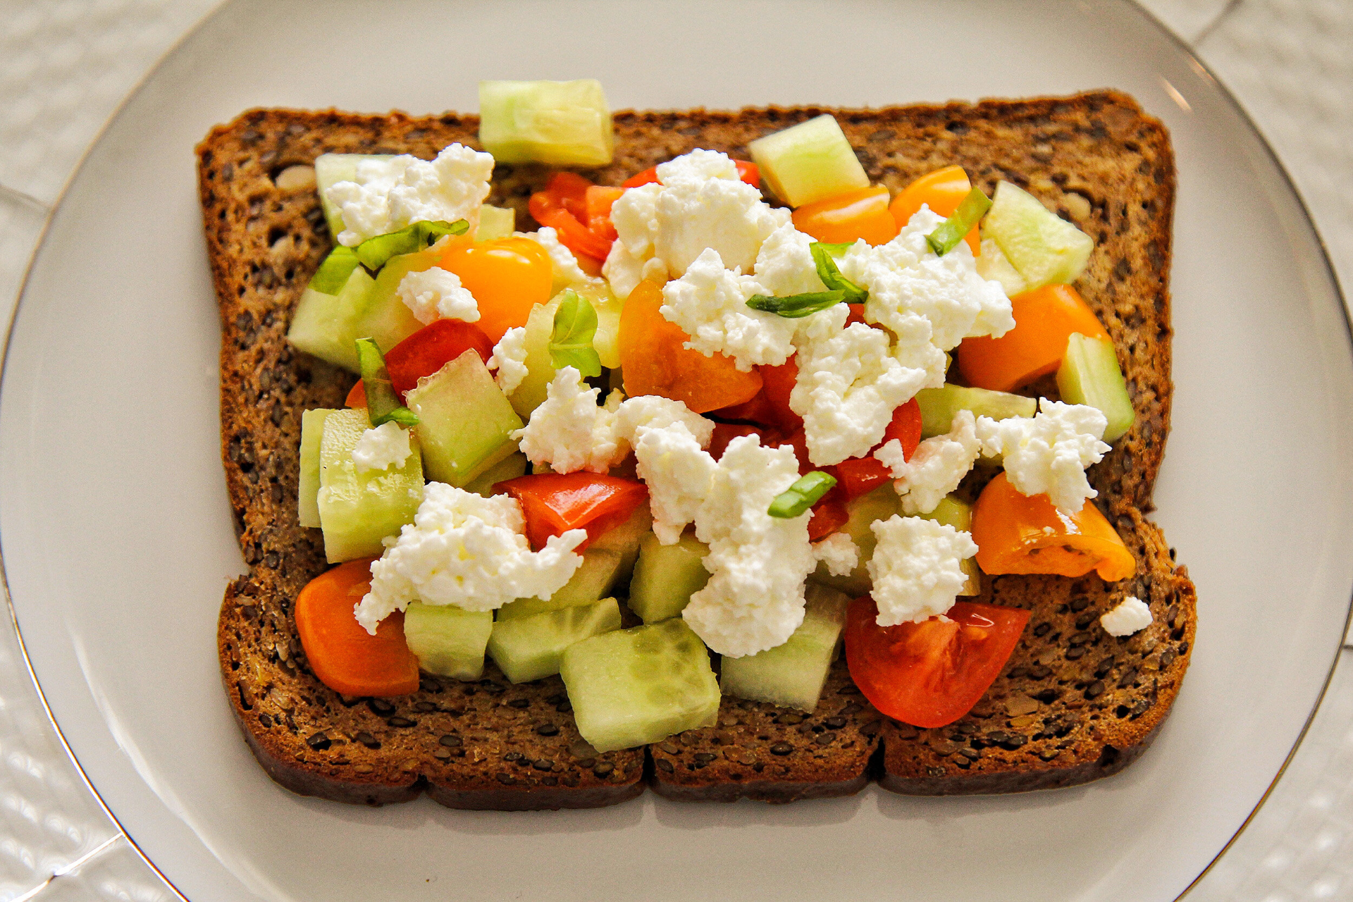
[[479,143],[498,162],[605,166],[616,131],[595,78],[480,81]]

